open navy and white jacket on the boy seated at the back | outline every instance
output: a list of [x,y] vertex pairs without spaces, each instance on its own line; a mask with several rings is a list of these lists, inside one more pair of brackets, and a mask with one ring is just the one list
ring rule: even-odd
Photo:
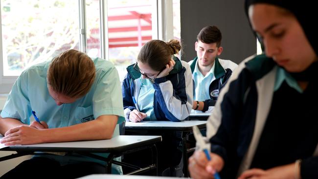
[[[192,74],[197,61],[198,57],[189,62]],[[219,97],[219,91],[227,83],[228,78],[231,76],[233,70],[237,67],[237,64],[235,64],[234,62],[230,60],[222,60],[219,58],[216,58],[214,63],[215,67],[213,73],[215,76],[215,80],[211,81],[209,89],[207,89],[209,90],[210,99],[204,101],[204,108],[202,110],[203,112],[207,111],[209,106],[215,105],[215,102]],[[193,85],[193,87],[195,87],[195,85]],[[195,96],[195,90],[193,90],[193,95]]]

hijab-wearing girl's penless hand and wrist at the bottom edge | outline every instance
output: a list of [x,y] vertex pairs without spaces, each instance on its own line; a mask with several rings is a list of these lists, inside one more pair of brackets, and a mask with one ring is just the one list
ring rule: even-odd
[[241,174],[238,179],[300,179],[299,168],[295,171],[295,163],[274,167],[268,170],[253,168]]

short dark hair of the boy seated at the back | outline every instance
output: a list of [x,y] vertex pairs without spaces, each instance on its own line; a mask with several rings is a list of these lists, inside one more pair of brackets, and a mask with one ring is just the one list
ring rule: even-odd
[[221,46],[222,33],[217,26],[206,26],[199,32],[197,36],[198,42],[201,41],[204,44],[216,43],[217,47]]

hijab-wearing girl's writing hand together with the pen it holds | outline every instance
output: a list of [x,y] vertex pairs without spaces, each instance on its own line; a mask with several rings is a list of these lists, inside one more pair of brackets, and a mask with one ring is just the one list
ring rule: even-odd
[[193,127],[193,134],[199,151],[189,158],[189,172],[193,179],[221,179],[218,171],[224,166],[224,160],[217,154],[210,153],[197,126]]

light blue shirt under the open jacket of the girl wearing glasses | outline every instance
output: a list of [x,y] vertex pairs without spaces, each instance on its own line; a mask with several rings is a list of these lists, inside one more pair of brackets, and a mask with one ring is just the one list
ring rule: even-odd
[[155,89],[153,82],[143,78],[140,78],[140,82],[141,86],[137,99],[139,111],[147,114],[144,120],[157,120],[154,113]]

